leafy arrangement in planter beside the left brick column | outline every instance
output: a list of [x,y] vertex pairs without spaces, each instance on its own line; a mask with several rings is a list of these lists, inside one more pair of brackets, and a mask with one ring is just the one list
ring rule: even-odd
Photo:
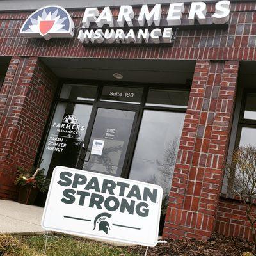
[[14,184],[17,186],[32,186],[38,189],[42,193],[46,193],[49,189],[50,181],[44,175],[44,169],[32,167],[31,169],[25,169],[18,167],[17,179]]

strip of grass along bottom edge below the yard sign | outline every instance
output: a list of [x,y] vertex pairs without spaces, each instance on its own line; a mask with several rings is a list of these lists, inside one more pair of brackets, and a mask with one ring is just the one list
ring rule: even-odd
[[[49,235],[47,256],[138,256],[131,248],[111,246],[66,235]],[[0,234],[0,256],[42,256],[45,236],[10,236]]]

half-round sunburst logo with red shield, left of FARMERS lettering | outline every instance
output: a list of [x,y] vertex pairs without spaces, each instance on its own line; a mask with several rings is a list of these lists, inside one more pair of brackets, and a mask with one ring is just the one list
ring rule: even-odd
[[33,12],[24,22],[20,34],[28,37],[73,37],[74,22],[60,6],[45,6]]

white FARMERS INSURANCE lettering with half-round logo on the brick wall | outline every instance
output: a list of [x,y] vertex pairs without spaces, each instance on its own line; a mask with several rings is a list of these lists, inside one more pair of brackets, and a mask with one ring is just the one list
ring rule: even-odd
[[[173,38],[173,26],[225,24],[230,15],[230,1],[218,1],[215,12],[206,15],[204,2],[192,2],[188,17],[182,17],[184,3],[170,3],[166,18],[162,17],[161,4],[141,6],[135,18],[132,6],[120,6],[118,17],[113,18],[107,6],[101,12],[97,7],[86,8],[79,28],[78,39],[83,44],[112,43],[170,43]],[[72,37],[74,22],[67,11],[60,6],[45,6],[32,13],[20,29],[20,34],[29,37]]]

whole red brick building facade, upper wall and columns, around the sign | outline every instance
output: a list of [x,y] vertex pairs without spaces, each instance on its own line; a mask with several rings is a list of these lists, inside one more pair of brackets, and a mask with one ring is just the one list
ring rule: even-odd
[[[111,10],[114,16],[118,15],[117,8]],[[168,6],[163,4],[162,10],[166,15]],[[188,11],[189,4],[185,4],[185,16]],[[230,136],[237,140],[232,137],[232,131],[237,131],[237,93],[243,94],[239,88],[246,84],[253,90],[253,75],[256,76],[254,70],[250,81],[248,76],[244,78],[248,65],[253,70],[256,61],[256,2],[231,2],[227,28],[179,29],[175,41],[168,46],[83,45],[77,36],[84,10],[68,12],[75,24],[74,38],[48,41],[20,36],[20,28],[31,11],[0,13],[0,59],[8,57],[0,91],[0,198],[17,199],[13,185],[17,166],[29,168],[42,152],[51,106],[60,81],[66,78],[49,65],[52,59],[63,63],[70,59],[131,63],[159,60],[170,61],[170,65],[173,60],[184,61],[185,65],[186,61],[193,61],[195,68],[163,236],[209,239],[216,231],[251,239],[244,207],[237,198],[227,195],[223,175],[232,143]],[[138,12],[136,8],[135,15]],[[213,12],[214,3],[207,3],[207,13]]]

